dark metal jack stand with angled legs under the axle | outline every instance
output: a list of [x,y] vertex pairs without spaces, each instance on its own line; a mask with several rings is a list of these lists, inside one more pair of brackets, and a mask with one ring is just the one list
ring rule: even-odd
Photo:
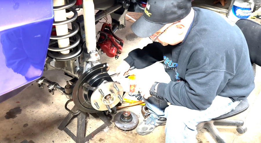
[[[72,109],[73,112],[76,112],[77,110],[78,110],[78,108],[76,106],[74,106]],[[94,117],[99,116],[99,118],[102,119],[104,124],[102,124],[102,126],[98,127],[97,129],[95,129],[95,131],[93,131],[92,133],[90,133],[89,135],[87,135],[85,137],[85,132],[86,132],[86,128],[85,128],[86,121],[85,120],[86,120],[86,115],[89,116],[89,114]],[[66,127],[75,116],[77,116],[77,135],[76,136]],[[93,138],[94,135],[96,135],[97,133],[102,131],[104,128],[106,128],[110,124],[111,124],[110,120],[104,115],[104,113],[102,113],[102,111],[98,112],[98,113],[86,113],[86,112],[80,111],[80,113],[77,115],[68,113],[66,118],[59,125],[58,129],[65,131],[65,133],[67,133],[67,135],[69,135],[76,143],[84,143],[84,142],[87,142],[88,140],[90,140],[91,138]]]

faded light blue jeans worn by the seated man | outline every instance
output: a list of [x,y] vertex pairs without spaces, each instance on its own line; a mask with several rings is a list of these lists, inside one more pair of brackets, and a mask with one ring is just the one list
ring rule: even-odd
[[166,143],[196,142],[197,124],[224,115],[240,103],[216,96],[206,110],[192,110],[182,106],[168,105],[162,98],[143,99],[153,117],[167,118],[165,125]]

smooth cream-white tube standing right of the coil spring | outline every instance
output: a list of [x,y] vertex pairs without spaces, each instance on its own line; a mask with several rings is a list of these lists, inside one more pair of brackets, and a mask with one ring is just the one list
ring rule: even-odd
[[87,52],[96,51],[95,12],[93,0],[83,0],[84,32]]

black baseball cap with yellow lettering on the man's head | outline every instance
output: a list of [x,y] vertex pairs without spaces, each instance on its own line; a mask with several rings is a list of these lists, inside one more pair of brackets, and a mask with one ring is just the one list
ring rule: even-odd
[[167,23],[185,18],[190,11],[191,0],[148,0],[144,14],[131,25],[131,30],[145,38]]

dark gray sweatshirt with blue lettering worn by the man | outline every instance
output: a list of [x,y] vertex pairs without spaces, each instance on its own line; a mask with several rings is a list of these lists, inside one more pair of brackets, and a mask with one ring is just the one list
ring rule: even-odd
[[241,30],[211,10],[193,9],[194,20],[182,43],[153,42],[124,60],[137,69],[164,60],[172,81],[160,83],[157,94],[172,105],[205,110],[217,95],[233,101],[247,98],[255,85]]

